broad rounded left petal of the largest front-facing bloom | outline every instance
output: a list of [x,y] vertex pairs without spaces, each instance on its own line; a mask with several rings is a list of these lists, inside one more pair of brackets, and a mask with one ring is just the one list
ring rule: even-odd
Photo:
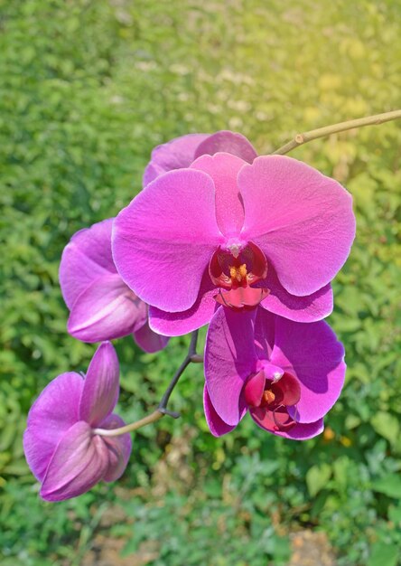
[[209,175],[182,169],[158,177],[113,228],[113,256],[128,287],[169,312],[190,308],[221,243]]

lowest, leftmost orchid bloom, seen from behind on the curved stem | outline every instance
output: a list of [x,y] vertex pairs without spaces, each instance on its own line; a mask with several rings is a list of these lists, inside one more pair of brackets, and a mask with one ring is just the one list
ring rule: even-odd
[[112,344],[100,344],[85,377],[61,373],[33,403],[23,449],[33,475],[42,483],[43,499],[76,497],[101,480],[115,481],[126,469],[132,448],[129,433],[104,437],[96,431],[125,424],[112,413],[118,373]]

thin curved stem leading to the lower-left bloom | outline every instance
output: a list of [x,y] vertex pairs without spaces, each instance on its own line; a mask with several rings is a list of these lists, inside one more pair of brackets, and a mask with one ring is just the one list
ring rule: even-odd
[[169,415],[173,417],[173,419],[178,419],[180,417],[180,413],[168,410],[167,404],[170,400],[170,397],[173,393],[174,387],[179,382],[182,373],[186,370],[186,368],[190,365],[190,363],[201,363],[203,358],[201,355],[196,353],[196,346],[198,344],[198,330],[195,330],[191,334],[191,344],[188,348],[188,352],[178,368],[178,370],[174,373],[172,381],[169,383],[167,389],[164,391],[163,397],[157,407],[156,410],[151,412],[149,415],[146,415],[143,419],[135,420],[135,422],[131,422],[130,424],[125,425],[124,427],[119,427],[118,429],[94,429],[93,433],[98,434],[102,437],[117,437],[121,434],[126,434],[126,432],[132,432],[133,430],[142,429],[147,424],[151,422],[155,422],[156,420],[160,420],[164,417],[164,415]]

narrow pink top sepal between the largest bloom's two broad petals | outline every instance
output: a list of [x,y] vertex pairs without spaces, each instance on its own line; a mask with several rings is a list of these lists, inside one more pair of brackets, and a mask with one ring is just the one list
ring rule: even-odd
[[239,193],[238,171],[246,162],[229,154],[201,156],[191,165],[210,175],[216,187],[216,218],[225,236],[238,236],[244,223],[244,206]]

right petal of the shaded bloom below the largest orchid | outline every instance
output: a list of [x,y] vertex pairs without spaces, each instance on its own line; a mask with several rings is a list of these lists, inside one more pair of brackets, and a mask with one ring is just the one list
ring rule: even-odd
[[272,363],[292,373],[301,399],[288,412],[302,423],[321,419],[340,396],[346,365],[344,348],[324,321],[295,323],[277,317]]

